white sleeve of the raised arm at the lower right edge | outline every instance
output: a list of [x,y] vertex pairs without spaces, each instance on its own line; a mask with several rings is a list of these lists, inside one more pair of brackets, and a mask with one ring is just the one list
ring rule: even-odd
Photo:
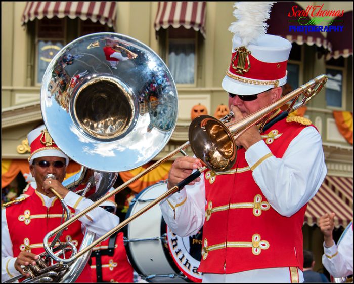
[[353,274],[353,230],[348,228],[342,237],[338,249],[334,244],[330,248],[323,245],[323,266],[336,278]]

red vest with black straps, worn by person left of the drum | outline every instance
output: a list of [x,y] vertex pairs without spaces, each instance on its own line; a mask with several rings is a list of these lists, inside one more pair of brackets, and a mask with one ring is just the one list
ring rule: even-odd
[[[118,233],[115,238],[112,252],[109,252],[108,248],[110,239],[111,238],[108,238],[102,241],[99,245],[94,247],[92,251],[92,282],[131,283],[133,281],[133,268],[131,267],[131,264],[126,256],[123,243],[123,233]],[[101,261],[101,267],[96,266],[98,264],[96,258],[99,258],[98,262]],[[96,273],[96,271],[102,271],[102,273]],[[101,275],[102,278],[98,278],[97,274]]]

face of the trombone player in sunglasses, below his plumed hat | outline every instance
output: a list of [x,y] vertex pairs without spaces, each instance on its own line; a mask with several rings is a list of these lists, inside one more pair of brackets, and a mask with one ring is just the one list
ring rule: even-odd
[[278,94],[279,90],[281,90],[280,87],[259,93],[257,99],[253,101],[243,101],[239,96],[234,96],[233,94],[229,93],[229,109],[231,110],[231,106],[233,105],[237,106],[240,109],[242,115],[247,116],[278,100],[281,95],[281,93]]

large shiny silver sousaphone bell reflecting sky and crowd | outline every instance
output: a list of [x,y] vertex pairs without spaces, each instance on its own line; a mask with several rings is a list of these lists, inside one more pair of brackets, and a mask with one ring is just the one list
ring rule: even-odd
[[69,157],[87,168],[120,172],[146,164],[167,144],[178,98],[152,49],[126,35],[95,33],[53,58],[42,81],[41,111]]

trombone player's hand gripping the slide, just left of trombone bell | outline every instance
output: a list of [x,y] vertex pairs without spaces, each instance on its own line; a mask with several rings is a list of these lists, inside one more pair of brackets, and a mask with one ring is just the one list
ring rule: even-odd
[[[171,189],[173,186],[183,181],[189,175],[192,174],[194,169],[202,167],[202,163],[198,158],[193,157],[179,157],[173,162],[171,169],[168,173],[167,188]],[[200,181],[200,177],[190,182],[188,185],[193,185]]]

